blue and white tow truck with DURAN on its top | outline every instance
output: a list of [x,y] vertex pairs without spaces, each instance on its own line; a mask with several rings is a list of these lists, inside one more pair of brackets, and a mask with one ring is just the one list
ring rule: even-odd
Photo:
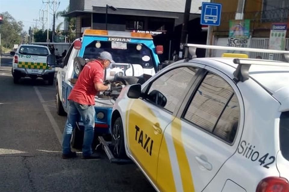
[[[98,53],[108,51],[116,62],[104,71],[104,80],[111,82],[111,90],[99,92],[95,96],[95,141],[98,136],[110,136],[110,117],[114,101],[125,85],[143,83],[158,69],[163,46],[154,46],[150,34],[135,32],[105,31],[86,29],[81,38],[76,39],[67,51],[57,72],[56,105],[57,114],[64,116],[68,111],[68,96],[83,66],[97,58]],[[73,130],[71,144],[81,148],[83,123],[79,117]]]

